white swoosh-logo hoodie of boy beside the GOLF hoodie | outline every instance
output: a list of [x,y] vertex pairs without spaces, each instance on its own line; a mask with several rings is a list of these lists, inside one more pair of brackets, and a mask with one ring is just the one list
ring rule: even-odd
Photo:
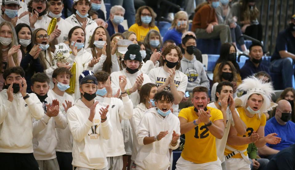
[[109,106],[110,122],[113,127],[113,134],[106,142],[108,148],[107,157],[121,156],[126,154],[123,141],[123,133],[121,129],[121,120],[128,120],[133,116],[133,104],[128,96],[118,98],[107,98],[96,96],[95,98],[104,106]]

